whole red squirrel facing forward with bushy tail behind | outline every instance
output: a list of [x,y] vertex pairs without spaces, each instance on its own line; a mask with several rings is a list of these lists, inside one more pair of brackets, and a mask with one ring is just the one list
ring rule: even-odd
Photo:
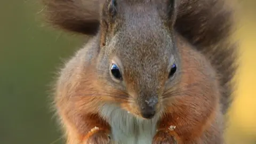
[[225,143],[237,46],[224,0],[44,0],[48,20],[93,36],[60,70],[68,144]]

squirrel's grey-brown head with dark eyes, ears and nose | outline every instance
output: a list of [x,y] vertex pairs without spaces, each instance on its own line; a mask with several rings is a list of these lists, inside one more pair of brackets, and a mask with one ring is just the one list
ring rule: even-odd
[[102,5],[97,83],[131,114],[150,119],[177,84],[176,0],[108,0]]

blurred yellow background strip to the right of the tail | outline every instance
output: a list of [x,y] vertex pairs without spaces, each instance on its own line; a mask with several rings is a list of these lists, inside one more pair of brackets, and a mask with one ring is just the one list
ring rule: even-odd
[[256,143],[256,1],[241,1],[238,6],[235,39],[240,41],[241,59],[226,135],[230,144],[253,144]]

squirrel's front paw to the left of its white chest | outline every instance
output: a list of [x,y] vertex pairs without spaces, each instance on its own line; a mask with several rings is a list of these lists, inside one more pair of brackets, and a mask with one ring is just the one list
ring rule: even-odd
[[106,131],[98,130],[87,137],[83,144],[110,144],[110,136]]

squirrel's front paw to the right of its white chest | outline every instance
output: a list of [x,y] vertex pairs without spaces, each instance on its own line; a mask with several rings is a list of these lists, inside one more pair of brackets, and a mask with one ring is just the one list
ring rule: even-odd
[[178,144],[178,142],[168,131],[158,131],[152,144]]

